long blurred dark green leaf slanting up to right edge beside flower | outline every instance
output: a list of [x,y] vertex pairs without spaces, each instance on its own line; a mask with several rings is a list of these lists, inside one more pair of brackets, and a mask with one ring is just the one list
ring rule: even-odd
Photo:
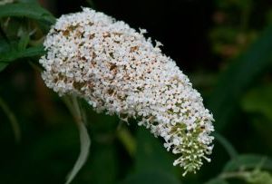
[[261,34],[248,51],[230,63],[219,77],[218,85],[210,95],[208,106],[213,112],[216,130],[222,131],[238,108],[241,96],[257,77],[272,65],[272,24]]

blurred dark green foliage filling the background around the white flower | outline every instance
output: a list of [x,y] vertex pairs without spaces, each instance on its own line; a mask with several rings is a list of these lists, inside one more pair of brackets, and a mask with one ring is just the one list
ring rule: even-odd
[[[41,2],[57,12],[55,2]],[[107,5],[84,3],[100,10]],[[212,162],[183,178],[160,138],[135,121],[128,126],[97,114],[83,102],[92,146],[72,183],[272,183],[272,5],[253,0],[209,4],[213,22],[205,36],[216,62],[200,64],[189,78],[215,115]],[[34,0],[0,6],[0,183],[64,183],[79,154],[73,114],[44,86],[38,69],[44,35],[54,21]]]

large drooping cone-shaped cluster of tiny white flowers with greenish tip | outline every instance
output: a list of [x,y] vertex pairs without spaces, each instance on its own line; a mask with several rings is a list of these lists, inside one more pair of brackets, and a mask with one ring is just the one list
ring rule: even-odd
[[96,111],[136,119],[180,155],[174,165],[184,175],[195,172],[209,161],[212,115],[160,43],[153,46],[140,32],[89,8],[63,15],[44,41],[44,82],[60,95],[82,97]]

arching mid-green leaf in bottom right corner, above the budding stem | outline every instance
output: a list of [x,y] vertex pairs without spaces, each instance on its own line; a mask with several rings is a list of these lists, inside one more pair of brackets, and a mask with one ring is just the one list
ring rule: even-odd
[[271,169],[272,160],[262,155],[246,154],[240,155],[234,160],[228,161],[223,171],[230,172],[238,169]]

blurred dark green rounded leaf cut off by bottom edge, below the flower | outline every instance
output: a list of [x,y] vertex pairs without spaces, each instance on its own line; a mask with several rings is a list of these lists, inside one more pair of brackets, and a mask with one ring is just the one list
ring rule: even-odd
[[121,184],[180,184],[179,179],[164,171],[148,171],[134,174],[121,182]]

